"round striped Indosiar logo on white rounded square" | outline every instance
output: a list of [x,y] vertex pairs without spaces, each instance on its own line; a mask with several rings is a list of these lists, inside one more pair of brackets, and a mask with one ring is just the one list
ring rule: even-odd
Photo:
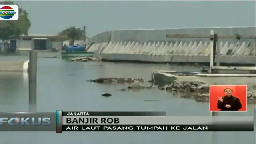
[[0,20],[18,20],[19,7],[17,5],[0,5]]

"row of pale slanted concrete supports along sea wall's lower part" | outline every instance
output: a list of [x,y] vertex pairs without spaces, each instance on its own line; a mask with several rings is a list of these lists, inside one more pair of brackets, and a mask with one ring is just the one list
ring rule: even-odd
[[[220,42],[220,63],[255,64],[255,42]],[[210,62],[211,42],[104,42],[93,44],[95,52],[105,60],[141,62]]]

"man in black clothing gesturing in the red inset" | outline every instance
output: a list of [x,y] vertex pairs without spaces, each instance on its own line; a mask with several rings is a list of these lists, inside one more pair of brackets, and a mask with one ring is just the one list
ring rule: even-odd
[[239,98],[232,96],[232,88],[224,88],[226,96],[218,97],[218,109],[220,111],[238,111],[242,108]]

